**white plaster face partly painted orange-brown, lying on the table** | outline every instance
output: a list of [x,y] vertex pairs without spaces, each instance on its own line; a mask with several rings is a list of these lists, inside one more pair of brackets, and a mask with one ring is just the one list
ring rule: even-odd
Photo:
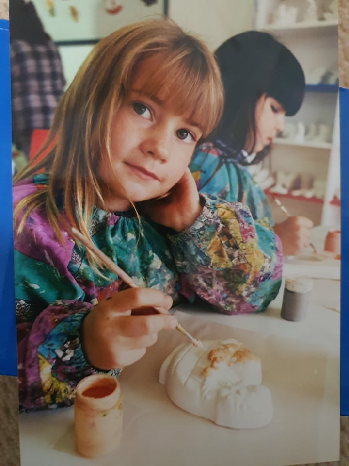
[[203,348],[178,346],[163,362],[159,382],[180,408],[236,429],[262,427],[272,419],[260,360],[234,339],[204,340]]

